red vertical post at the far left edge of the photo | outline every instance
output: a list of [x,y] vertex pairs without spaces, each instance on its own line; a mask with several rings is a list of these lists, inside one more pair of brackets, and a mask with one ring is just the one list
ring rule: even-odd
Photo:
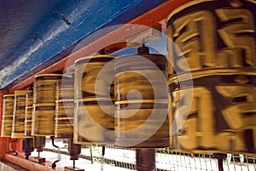
[[[7,90],[0,90],[0,134],[1,128],[2,128],[2,116],[3,116],[3,95],[7,94]],[[9,138],[6,137],[0,137],[0,158],[4,157],[4,154],[9,151],[8,145],[9,145]]]

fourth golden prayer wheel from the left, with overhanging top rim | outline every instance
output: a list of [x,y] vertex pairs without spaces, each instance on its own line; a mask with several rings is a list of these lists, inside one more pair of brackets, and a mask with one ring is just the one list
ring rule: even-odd
[[32,135],[55,136],[55,83],[62,74],[41,74],[35,77],[32,111]]

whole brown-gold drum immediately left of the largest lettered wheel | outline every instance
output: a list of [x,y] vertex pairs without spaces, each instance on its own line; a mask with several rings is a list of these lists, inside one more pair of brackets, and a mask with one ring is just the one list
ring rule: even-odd
[[142,54],[114,61],[115,145],[157,148],[169,145],[166,57]]

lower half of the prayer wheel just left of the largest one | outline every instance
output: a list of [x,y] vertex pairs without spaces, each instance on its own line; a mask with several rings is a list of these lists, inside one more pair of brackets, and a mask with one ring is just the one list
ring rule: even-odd
[[124,100],[116,101],[115,105],[115,145],[133,148],[169,145],[167,100],[143,100],[141,103],[138,100]]

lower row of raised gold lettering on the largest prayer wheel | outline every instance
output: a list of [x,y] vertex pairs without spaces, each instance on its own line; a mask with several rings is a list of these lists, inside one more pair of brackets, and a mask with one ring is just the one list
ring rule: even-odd
[[[173,147],[193,151],[255,151],[256,89],[244,78],[237,79],[236,83],[216,83],[211,91],[204,85],[196,86],[189,116],[178,130],[177,142],[172,142]],[[185,90],[172,92],[172,114],[176,123],[184,117],[186,96],[181,98],[180,94]],[[222,97],[225,102],[221,100]],[[224,102],[224,105],[213,107],[218,100],[219,103]],[[217,117],[220,117],[214,115],[217,108],[221,111],[218,115],[224,117],[227,127],[217,128],[215,123],[218,122]]]

